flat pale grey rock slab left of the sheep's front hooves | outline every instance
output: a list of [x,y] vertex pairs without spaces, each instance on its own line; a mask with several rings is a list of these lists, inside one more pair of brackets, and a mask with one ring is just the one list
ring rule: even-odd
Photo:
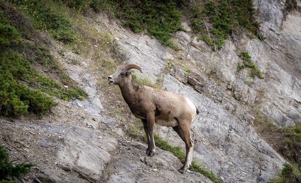
[[65,134],[65,146],[59,149],[57,161],[69,164],[84,179],[97,182],[102,176],[104,166],[111,161],[111,153],[118,145],[113,137],[102,136],[99,139],[99,136],[99,133],[75,127]]

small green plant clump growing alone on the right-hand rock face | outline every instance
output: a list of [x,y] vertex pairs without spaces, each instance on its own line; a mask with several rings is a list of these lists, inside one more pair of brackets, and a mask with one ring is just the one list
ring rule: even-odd
[[245,67],[249,67],[251,69],[251,74],[250,74],[251,77],[255,77],[256,75],[259,79],[264,79],[257,65],[255,65],[251,60],[252,57],[248,52],[242,51],[239,56],[242,59],[243,63],[242,65],[239,64],[237,65],[238,72],[244,69]]

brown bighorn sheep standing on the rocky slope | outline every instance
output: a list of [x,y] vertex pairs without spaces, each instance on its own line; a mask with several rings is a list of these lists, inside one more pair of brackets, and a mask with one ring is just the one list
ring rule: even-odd
[[190,136],[190,126],[198,113],[197,108],[184,96],[165,92],[152,86],[134,84],[130,69],[138,69],[142,73],[137,65],[120,65],[116,72],[108,77],[109,84],[119,86],[130,111],[143,122],[148,145],[147,155],[154,156],[156,151],[153,133],[155,123],[173,127],[186,144],[185,162],[179,169],[181,173],[184,173],[191,166],[194,142]]

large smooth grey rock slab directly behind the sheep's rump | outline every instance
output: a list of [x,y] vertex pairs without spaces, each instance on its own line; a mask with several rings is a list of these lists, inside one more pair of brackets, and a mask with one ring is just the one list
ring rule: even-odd
[[[218,176],[224,177],[225,181],[256,182],[255,177],[267,181],[273,176],[275,167],[277,169],[282,167],[283,158],[260,139],[250,126],[253,121],[251,116],[243,117],[246,118],[245,121],[249,121],[248,124],[244,124],[210,99],[199,95],[189,87],[183,88],[175,78],[166,77],[164,83],[169,83],[168,90],[188,97],[197,107],[200,105],[204,107],[200,110],[192,129],[196,138],[194,159],[205,164],[207,169],[212,169]],[[160,136],[173,145],[180,145],[185,149],[184,143],[175,132],[166,128],[160,129]],[[265,170],[261,169],[263,164],[270,162],[272,166],[268,166]],[[265,176],[261,176],[259,172],[264,172],[262,174]]]

